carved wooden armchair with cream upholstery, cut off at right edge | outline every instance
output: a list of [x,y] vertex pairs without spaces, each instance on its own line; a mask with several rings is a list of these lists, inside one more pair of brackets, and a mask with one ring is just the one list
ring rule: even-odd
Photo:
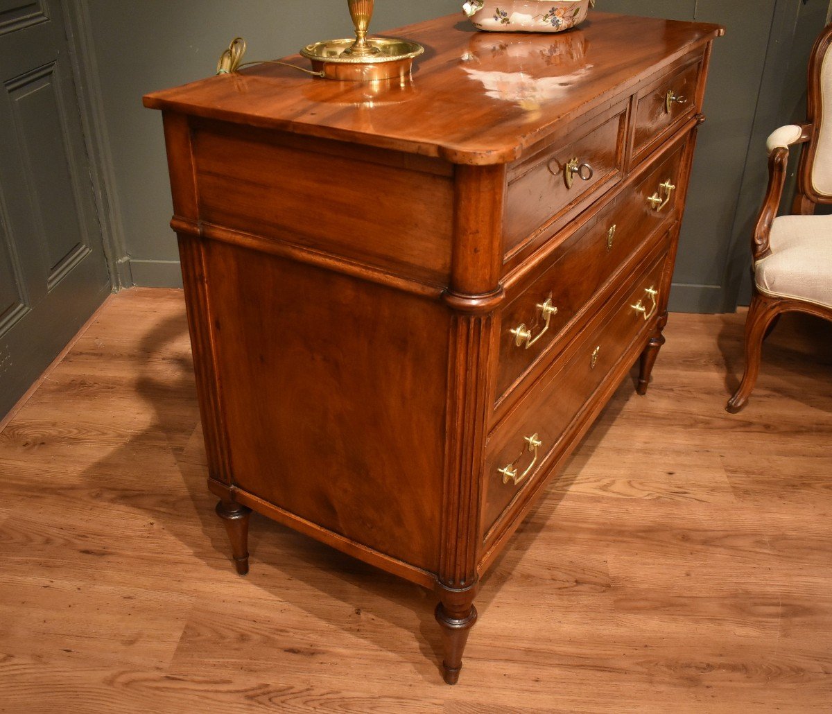
[[[832,320],[832,216],[814,216],[832,204],[832,24],[821,33],[809,64],[808,119],[782,126],[768,140],[769,188],[751,239],[754,295],[745,321],[745,374],[727,409],[748,402],[760,371],[763,340],[784,312],[799,310]],[[800,156],[792,215],[777,216],[789,147]]]

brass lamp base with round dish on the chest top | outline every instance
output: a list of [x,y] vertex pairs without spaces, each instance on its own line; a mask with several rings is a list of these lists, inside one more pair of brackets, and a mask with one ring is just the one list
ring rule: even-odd
[[413,62],[422,52],[417,42],[367,37],[374,0],[347,0],[355,26],[355,39],[326,40],[304,47],[300,54],[312,62],[322,77],[345,82],[374,82],[409,77]]

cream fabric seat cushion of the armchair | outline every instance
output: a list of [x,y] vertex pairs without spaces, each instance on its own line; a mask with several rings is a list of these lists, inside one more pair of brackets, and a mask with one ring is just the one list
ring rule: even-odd
[[755,264],[760,292],[832,308],[832,216],[775,218],[769,246]]

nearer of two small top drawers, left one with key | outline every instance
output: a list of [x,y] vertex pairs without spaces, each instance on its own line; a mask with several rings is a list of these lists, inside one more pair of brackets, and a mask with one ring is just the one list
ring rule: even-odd
[[522,161],[509,173],[505,211],[505,255],[539,230],[616,183],[624,163],[626,104],[566,144]]

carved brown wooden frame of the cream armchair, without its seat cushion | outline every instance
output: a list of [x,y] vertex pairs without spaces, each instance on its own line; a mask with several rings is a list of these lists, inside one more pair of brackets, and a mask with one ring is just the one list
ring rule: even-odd
[[[813,181],[815,156],[818,151],[820,129],[823,121],[832,122],[832,117],[825,120],[823,116],[822,76],[824,60],[832,45],[832,24],[828,25],[815,42],[809,62],[808,106],[806,123],[802,125],[782,126],[775,131],[768,141],[769,147],[769,187],[765,196],[760,218],[751,238],[751,250],[754,262],[771,255],[769,245],[771,226],[777,216],[777,210],[783,196],[783,186],[789,161],[789,146],[806,143],[800,156],[798,167],[798,185],[792,214],[808,216],[815,212],[817,204],[832,204],[832,194],[818,191]],[[832,61],[832,57],[830,57]],[[832,105],[832,97],[827,97]],[[832,131],[827,127],[827,131]],[[832,220],[832,219],[830,219]],[[745,320],[745,374],[734,396],[728,401],[729,412],[735,414],[748,402],[751,391],[760,372],[760,355],[763,340],[775,325],[775,319],[784,312],[806,312],[832,320],[832,308],[817,305],[808,300],[797,300],[762,292],[754,281],[754,293]]]

